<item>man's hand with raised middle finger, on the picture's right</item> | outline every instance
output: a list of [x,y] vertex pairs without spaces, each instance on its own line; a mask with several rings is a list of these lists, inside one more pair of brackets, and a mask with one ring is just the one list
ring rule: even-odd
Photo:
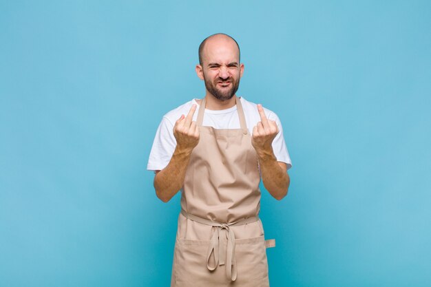
[[272,143],[278,134],[277,123],[274,120],[266,118],[262,105],[257,105],[257,111],[259,111],[260,122],[253,127],[251,145],[253,145],[258,155],[262,153],[266,155],[269,153],[273,154]]

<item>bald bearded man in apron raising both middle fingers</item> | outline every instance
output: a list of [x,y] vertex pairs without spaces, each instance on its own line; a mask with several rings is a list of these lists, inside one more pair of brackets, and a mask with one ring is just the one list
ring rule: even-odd
[[199,47],[205,96],[162,118],[147,169],[156,195],[181,191],[171,286],[269,286],[259,183],[277,200],[291,167],[279,118],[236,96],[244,64],[227,34]]

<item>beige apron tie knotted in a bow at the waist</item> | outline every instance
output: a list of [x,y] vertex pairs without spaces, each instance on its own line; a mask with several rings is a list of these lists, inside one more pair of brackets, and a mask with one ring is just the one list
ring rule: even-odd
[[[257,220],[259,220],[259,217],[253,216],[245,220],[240,220],[238,222],[221,223],[221,222],[215,222],[215,221],[207,220],[202,217],[198,217],[196,215],[189,214],[184,209],[181,209],[181,214],[184,215],[189,220],[193,220],[201,224],[206,224],[206,225],[215,227],[215,230],[213,231],[213,235],[210,240],[210,244],[208,246],[207,268],[208,270],[213,271],[215,270],[215,268],[217,268],[217,266],[219,265],[222,266],[226,264],[227,278],[231,279],[231,281],[235,281],[237,277],[236,257],[235,257],[235,233],[233,233],[231,226],[239,226],[239,225],[244,225],[251,222],[256,222]],[[224,239],[222,237],[222,233],[226,233],[226,239],[227,239],[226,251],[224,251]],[[211,255],[213,255],[214,257],[213,265],[211,264]]]

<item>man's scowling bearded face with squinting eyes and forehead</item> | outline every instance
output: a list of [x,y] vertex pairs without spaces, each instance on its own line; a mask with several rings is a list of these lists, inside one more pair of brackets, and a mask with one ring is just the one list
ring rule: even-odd
[[218,100],[229,100],[238,91],[244,70],[235,42],[225,37],[209,39],[202,56],[202,77],[207,91]]

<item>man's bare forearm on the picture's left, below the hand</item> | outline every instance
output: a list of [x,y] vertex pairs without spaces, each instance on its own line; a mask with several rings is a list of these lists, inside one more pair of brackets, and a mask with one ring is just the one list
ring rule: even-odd
[[169,164],[154,177],[154,189],[162,202],[168,202],[182,188],[191,151],[176,147]]

